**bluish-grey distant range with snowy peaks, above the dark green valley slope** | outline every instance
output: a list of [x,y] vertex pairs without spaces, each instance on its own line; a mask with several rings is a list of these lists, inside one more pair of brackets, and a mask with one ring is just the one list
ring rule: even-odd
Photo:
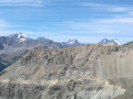
[[[100,44],[121,45],[116,40],[102,40]],[[0,53],[14,53],[17,51],[32,50],[34,47],[47,47],[59,50],[62,47],[82,45],[78,40],[69,40],[68,42],[53,42],[45,37],[30,38],[25,34],[17,33],[9,36],[0,36]]]

